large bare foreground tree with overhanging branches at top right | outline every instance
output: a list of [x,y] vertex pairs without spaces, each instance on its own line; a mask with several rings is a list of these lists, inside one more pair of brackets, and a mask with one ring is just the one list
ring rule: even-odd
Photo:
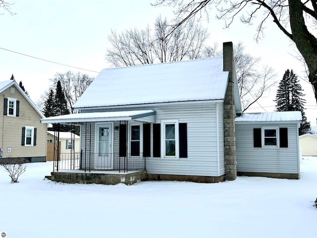
[[154,5],[170,5],[176,8],[176,18],[170,34],[193,18],[209,17],[212,8],[218,19],[225,20],[229,27],[236,17],[246,24],[260,18],[256,39],[262,37],[265,22],[273,19],[291,41],[296,44],[309,69],[309,81],[313,86],[317,102],[317,1],[316,0],[156,0]]

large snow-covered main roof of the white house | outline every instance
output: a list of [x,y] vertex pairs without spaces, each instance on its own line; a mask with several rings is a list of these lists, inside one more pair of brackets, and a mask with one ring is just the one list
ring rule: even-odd
[[103,69],[74,108],[222,100],[223,57]]

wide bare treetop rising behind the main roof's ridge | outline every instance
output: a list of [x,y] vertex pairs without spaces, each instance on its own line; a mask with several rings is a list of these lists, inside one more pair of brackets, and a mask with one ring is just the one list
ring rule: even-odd
[[156,62],[197,59],[209,37],[206,28],[189,21],[172,34],[171,23],[158,17],[154,30],[130,29],[108,35],[112,48],[106,52],[106,60],[114,66],[131,66]]

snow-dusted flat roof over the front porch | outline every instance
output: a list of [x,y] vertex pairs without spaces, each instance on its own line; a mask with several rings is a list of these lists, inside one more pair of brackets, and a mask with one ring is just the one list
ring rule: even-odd
[[63,116],[41,119],[42,123],[71,123],[86,121],[116,121],[116,120],[137,120],[154,122],[156,112],[153,110],[123,111],[123,112],[102,112],[102,113],[78,113]]

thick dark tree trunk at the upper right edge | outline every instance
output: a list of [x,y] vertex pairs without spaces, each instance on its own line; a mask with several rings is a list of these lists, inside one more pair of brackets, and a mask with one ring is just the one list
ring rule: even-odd
[[303,7],[300,0],[289,0],[289,20],[293,41],[304,57],[309,68],[311,82],[317,102],[317,40],[307,29],[303,17]]

